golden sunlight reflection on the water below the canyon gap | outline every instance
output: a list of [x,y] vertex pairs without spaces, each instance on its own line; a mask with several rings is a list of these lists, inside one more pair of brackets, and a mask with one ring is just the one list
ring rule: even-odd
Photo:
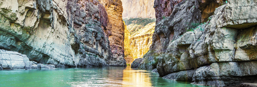
[[133,70],[131,68],[125,68],[123,70],[123,87],[150,87],[152,86],[149,73],[146,70]]

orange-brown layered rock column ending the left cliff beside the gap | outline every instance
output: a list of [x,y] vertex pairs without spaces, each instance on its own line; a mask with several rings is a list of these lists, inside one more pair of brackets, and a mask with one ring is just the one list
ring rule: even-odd
[[[112,60],[120,61],[121,65],[126,65],[124,59],[124,23],[122,20],[122,2],[120,0],[101,0],[108,14],[107,29],[105,32],[109,36],[110,47],[112,52]],[[116,63],[108,63],[116,66]],[[114,64],[114,65],[113,65]]]

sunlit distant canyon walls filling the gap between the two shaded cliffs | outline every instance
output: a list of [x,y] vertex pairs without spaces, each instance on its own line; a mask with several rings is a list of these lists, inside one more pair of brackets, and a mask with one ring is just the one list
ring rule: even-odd
[[154,0],[121,0],[125,24],[124,58],[127,66],[149,51],[155,28]]

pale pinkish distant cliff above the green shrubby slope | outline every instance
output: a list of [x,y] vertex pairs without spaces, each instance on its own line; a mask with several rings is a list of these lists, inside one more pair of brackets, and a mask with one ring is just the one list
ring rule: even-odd
[[154,0],[121,0],[122,18],[155,18]]

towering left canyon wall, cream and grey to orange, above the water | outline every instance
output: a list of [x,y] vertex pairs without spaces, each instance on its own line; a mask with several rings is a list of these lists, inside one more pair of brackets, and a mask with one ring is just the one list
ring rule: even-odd
[[120,22],[114,22],[98,0],[0,3],[0,49],[56,67],[126,66],[123,42],[118,41],[124,39],[121,5],[120,10],[113,7],[120,13],[113,15]]

